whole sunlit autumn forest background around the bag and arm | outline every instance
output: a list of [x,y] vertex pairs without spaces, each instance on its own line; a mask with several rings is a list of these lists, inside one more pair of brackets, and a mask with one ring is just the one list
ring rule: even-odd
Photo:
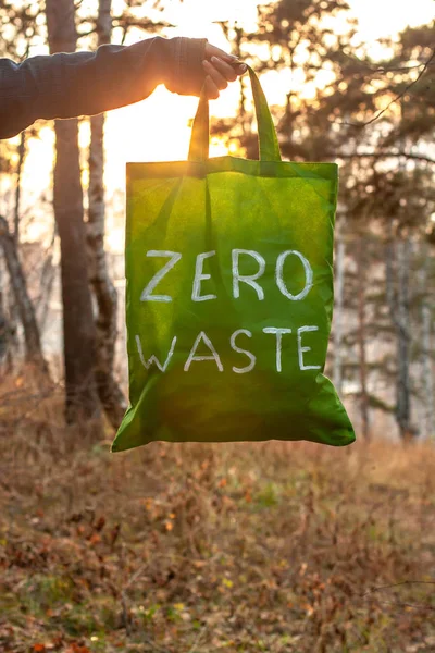
[[[114,461],[126,404],[125,162],[185,159],[197,100],[158,87],[105,118],[38,121],[1,141],[0,646],[430,651],[434,2],[217,4],[1,0],[0,56],[184,35],[256,69],[284,158],[339,164],[326,372],[359,444],[345,454],[159,443]],[[211,156],[257,158],[247,79],[211,112]],[[387,614],[380,594],[362,599],[397,582],[408,594],[389,596]]]

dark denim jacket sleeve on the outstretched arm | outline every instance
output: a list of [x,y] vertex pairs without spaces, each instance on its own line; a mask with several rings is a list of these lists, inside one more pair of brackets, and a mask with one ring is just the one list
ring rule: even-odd
[[0,138],[37,119],[95,115],[148,97],[158,84],[199,95],[206,39],[154,37],[96,52],[0,59]]

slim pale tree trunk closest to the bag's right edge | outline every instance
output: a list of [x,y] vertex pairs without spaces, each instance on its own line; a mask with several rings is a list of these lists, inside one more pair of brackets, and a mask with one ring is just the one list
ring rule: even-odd
[[334,307],[334,362],[333,382],[340,394],[343,390],[343,320],[345,294],[345,241],[341,229],[343,220],[337,221],[336,227],[336,259],[335,259],[335,307]]

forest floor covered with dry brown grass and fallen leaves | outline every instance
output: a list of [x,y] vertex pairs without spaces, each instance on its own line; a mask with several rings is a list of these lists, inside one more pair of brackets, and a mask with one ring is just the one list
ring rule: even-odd
[[18,406],[0,411],[1,652],[435,651],[433,445],[110,454]]

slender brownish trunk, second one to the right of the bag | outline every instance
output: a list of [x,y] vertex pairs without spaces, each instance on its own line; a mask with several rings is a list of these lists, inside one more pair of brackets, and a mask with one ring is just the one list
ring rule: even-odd
[[369,440],[369,393],[366,387],[366,352],[365,352],[365,256],[364,238],[360,236],[358,243],[358,350],[360,358],[360,409],[362,434]]

